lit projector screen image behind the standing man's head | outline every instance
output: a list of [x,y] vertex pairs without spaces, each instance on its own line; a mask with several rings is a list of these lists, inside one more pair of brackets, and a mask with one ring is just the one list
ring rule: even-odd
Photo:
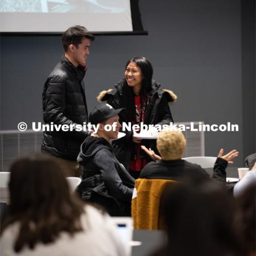
[[1,32],[133,31],[130,0],[1,0]]

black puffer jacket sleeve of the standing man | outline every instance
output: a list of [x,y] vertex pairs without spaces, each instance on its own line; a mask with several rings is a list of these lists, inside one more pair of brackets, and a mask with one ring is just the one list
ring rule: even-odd
[[[50,124],[77,125],[65,115],[66,109],[66,79],[52,77],[46,81],[43,93],[44,122]],[[61,131],[63,132],[63,131]],[[68,131],[65,135],[77,140],[84,140],[90,132]]]

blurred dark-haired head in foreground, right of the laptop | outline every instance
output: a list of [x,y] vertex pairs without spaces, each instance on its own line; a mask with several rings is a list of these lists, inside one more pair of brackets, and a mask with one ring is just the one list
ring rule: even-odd
[[163,192],[159,211],[166,224],[167,243],[151,256],[246,255],[234,226],[234,198],[217,182],[170,185]]

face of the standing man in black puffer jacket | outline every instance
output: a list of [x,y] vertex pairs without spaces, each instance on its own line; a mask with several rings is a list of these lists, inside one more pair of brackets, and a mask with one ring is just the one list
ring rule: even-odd
[[83,38],[81,44],[78,44],[77,47],[74,45],[72,47],[72,58],[77,64],[85,65],[86,59],[90,54],[89,47],[91,45],[91,40],[88,38]]

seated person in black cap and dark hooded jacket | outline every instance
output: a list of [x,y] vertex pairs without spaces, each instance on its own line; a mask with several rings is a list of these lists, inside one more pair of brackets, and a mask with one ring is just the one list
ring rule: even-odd
[[111,140],[117,139],[121,124],[114,109],[102,103],[95,107],[89,121],[97,126],[81,145],[77,162],[82,182],[77,192],[84,201],[98,204],[111,216],[130,216],[134,179],[113,154]]

